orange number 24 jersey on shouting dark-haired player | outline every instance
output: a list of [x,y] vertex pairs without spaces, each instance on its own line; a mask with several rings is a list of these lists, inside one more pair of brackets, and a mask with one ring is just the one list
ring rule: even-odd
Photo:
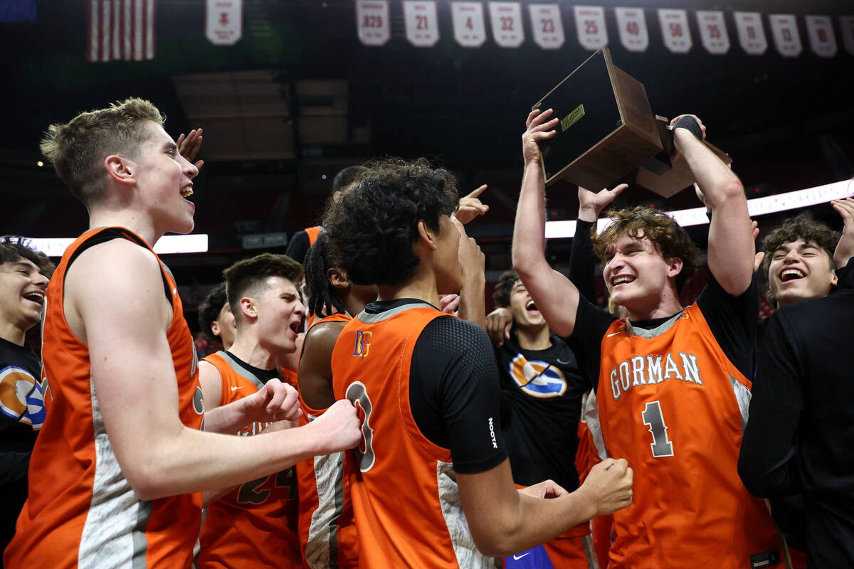
[[[264,386],[264,380],[225,351],[203,359],[219,371],[223,405],[248,397]],[[254,435],[263,427],[253,423],[236,434]],[[295,482],[294,468],[290,467],[243,483],[210,504],[196,556],[199,568],[301,567]]]

